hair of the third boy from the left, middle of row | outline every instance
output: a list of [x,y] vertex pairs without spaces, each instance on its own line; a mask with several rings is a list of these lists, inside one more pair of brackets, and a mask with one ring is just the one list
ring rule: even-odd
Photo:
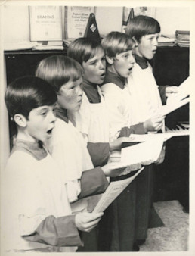
[[[88,38],[78,38],[74,40],[68,48],[67,55],[70,58],[78,61],[82,65],[82,62],[87,62],[90,58],[93,58],[98,49],[102,49],[100,42]],[[103,50],[104,51],[104,50]]]

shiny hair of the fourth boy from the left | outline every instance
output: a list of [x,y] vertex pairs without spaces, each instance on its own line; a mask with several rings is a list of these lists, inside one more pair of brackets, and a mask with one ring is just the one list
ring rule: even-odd
[[113,31],[107,34],[101,42],[108,57],[115,57],[121,52],[132,50],[135,45],[134,40],[125,33]]

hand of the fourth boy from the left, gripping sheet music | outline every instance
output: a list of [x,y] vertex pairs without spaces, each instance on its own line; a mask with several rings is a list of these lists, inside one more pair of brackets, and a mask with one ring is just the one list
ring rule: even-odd
[[154,132],[154,131],[158,131],[161,130],[163,128],[163,120],[165,117],[163,116],[154,116],[151,117],[150,119],[147,119],[144,122],[144,130],[147,132]]

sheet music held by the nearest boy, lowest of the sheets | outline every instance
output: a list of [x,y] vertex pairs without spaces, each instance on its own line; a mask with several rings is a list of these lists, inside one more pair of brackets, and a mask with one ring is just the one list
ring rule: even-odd
[[111,182],[107,187],[106,192],[104,192],[102,195],[101,200],[98,201],[93,213],[104,211],[128,186],[128,184],[132,183],[132,180],[134,180],[142,170],[144,170],[144,167],[142,167],[137,173],[135,173],[134,176],[131,176],[128,179]]

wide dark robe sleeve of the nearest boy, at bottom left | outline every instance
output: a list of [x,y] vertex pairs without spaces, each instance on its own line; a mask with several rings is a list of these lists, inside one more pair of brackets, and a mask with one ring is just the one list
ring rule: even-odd
[[48,216],[36,231],[23,239],[29,242],[41,242],[52,246],[82,246],[83,242],[76,228],[75,215],[63,217]]

